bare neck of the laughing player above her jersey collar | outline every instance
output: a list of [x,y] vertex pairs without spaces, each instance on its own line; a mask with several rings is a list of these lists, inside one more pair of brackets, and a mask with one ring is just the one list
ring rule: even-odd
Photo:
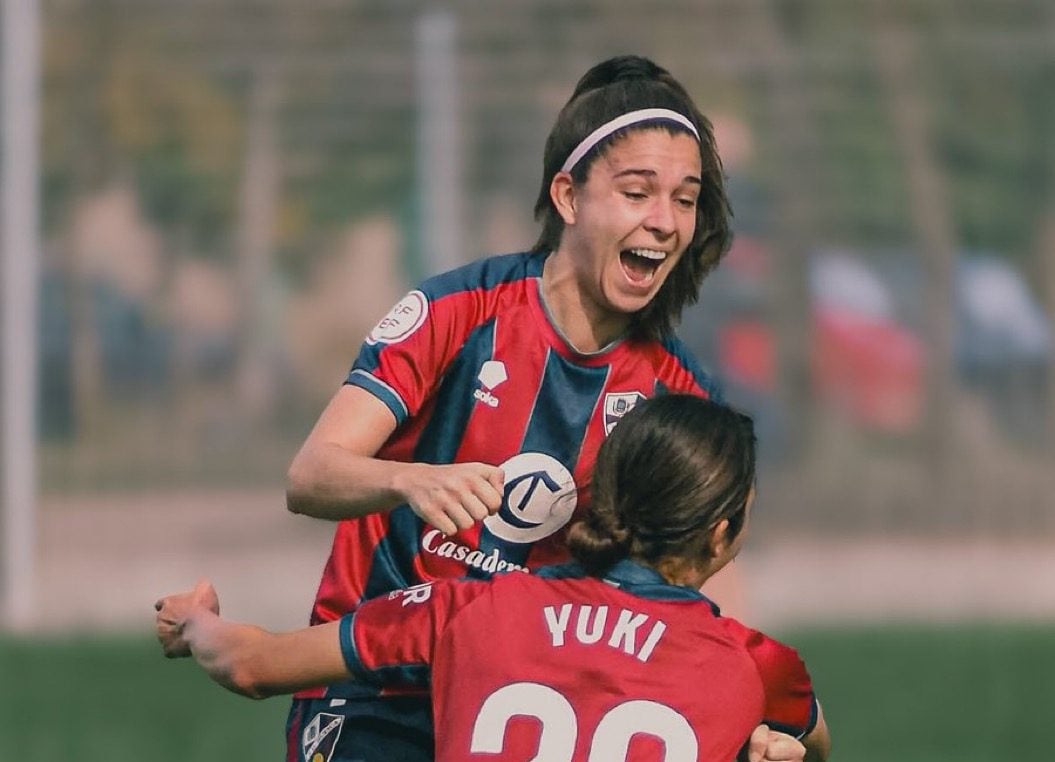
[[582,354],[599,351],[622,336],[630,317],[605,309],[578,280],[572,258],[560,250],[542,268],[542,301],[568,342]]

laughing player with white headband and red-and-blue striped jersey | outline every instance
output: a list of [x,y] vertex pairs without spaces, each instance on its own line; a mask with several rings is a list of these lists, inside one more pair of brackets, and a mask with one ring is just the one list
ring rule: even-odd
[[[672,327],[730,237],[710,123],[637,56],[583,75],[546,140],[528,252],[427,280],[367,337],[289,469],[291,511],[339,519],[311,624],[431,579],[567,558],[597,447],[638,400],[710,397]],[[427,759],[426,701],[301,691],[288,760]],[[420,755],[415,757],[415,750]]]

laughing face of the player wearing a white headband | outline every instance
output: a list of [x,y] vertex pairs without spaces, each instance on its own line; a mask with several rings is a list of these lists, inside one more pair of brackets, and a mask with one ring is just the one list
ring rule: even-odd
[[554,177],[551,194],[564,221],[557,258],[596,313],[588,317],[629,319],[659,291],[692,242],[699,176],[691,135],[647,129],[609,147],[582,185],[565,172]]

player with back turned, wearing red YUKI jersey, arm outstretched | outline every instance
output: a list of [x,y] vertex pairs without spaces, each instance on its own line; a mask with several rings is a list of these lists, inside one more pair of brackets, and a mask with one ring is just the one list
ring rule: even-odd
[[[651,399],[600,447],[573,563],[397,590],[286,634],[220,620],[199,584],[157,603],[158,640],[256,698],[347,679],[403,694],[430,686],[441,761],[721,762],[760,722],[824,760],[828,730],[798,654],[698,592],[744,541],[754,466],[748,417],[689,395]],[[324,713],[305,756],[329,759],[341,728]]]

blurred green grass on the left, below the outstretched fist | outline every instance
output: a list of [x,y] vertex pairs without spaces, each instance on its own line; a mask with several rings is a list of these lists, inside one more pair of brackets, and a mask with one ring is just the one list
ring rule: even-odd
[[287,708],[229,693],[149,635],[0,639],[0,759],[277,762]]

